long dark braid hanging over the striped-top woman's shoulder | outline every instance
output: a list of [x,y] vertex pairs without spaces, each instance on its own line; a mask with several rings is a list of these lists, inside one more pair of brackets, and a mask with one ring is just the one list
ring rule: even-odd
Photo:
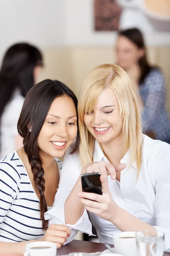
[[[44,169],[42,168],[42,160],[40,158],[40,154],[29,154],[27,146],[24,146],[24,150],[28,155],[28,161],[31,165],[31,170],[34,175],[34,181],[36,187],[40,193],[40,218],[42,219],[42,229],[47,230],[48,221],[44,219],[44,213],[47,211],[47,202],[45,200],[45,179],[44,179]],[[38,150],[37,150],[38,152]]]

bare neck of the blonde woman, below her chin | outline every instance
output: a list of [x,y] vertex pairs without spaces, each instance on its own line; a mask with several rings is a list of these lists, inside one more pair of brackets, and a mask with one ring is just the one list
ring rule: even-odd
[[123,152],[123,138],[122,136],[117,137],[116,139],[102,144],[102,149],[105,156],[108,158],[109,162],[113,166],[117,166],[120,163]]

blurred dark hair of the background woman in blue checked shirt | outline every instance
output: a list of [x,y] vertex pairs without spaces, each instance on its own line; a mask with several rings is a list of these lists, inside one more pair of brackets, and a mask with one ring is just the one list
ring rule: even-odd
[[144,81],[147,74],[150,73],[150,70],[153,68],[150,66],[150,64],[147,61],[146,46],[144,44],[144,38],[142,36],[142,32],[140,32],[139,29],[132,28],[132,29],[126,29],[126,30],[120,31],[119,36],[120,35],[125,36],[130,41],[132,41],[133,44],[136,44],[136,46],[139,49],[144,49],[145,51],[144,56],[139,59],[139,67],[141,69],[141,76],[139,78],[139,84],[140,84]]

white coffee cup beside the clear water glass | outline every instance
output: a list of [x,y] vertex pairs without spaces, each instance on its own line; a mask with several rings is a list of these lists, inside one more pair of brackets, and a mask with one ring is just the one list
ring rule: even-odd
[[125,256],[136,256],[136,232],[121,232],[113,235],[113,244],[116,253]]

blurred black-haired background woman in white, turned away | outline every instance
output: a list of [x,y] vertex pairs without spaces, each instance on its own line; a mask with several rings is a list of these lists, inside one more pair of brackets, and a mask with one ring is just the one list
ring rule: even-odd
[[22,145],[17,122],[41,66],[42,54],[30,44],[14,44],[4,55],[0,70],[0,159]]

